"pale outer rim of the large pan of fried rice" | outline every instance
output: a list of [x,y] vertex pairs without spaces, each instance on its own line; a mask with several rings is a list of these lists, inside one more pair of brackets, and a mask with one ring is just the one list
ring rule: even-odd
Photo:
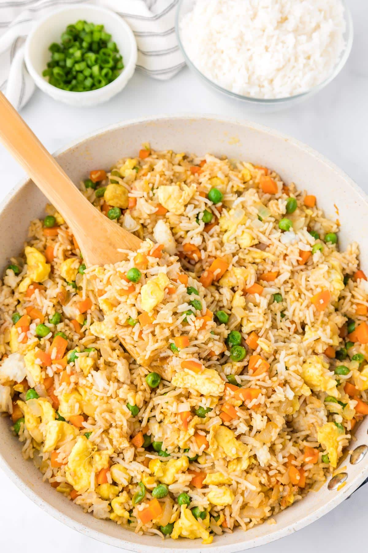
[[[108,134],[109,132],[119,129],[121,127],[129,127],[129,126],[134,126],[136,124],[142,124],[142,123],[143,124],[155,123],[158,121],[171,122],[176,120],[217,121],[220,123],[236,124],[239,127],[247,127],[254,131],[270,134],[278,140],[281,140],[283,142],[288,142],[298,150],[301,150],[302,152],[307,153],[308,155],[312,155],[318,161],[326,165],[335,174],[338,174],[341,178],[343,178],[346,181],[346,184],[348,184],[355,190],[355,192],[360,196],[361,201],[368,206],[368,195],[345,173],[345,171],[340,169],[332,161],[326,158],[326,156],[319,154],[317,150],[314,150],[308,145],[302,143],[300,140],[292,138],[289,135],[286,135],[284,133],[280,133],[279,131],[276,131],[275,129],[264,126],[262,124],[248,121],[247,119],[239,120],[236,118],[217,116],[214,114],[201,115],[201,114],[195,114],[195,113],[194,114],[183,113],[175,116],[172,116],[170,114],[162,114],[162,115],[153,116],[153,117],[151,116],[151,117],[140,117],[135,119],[129,119],[127,121],[113,123],[107,127],[102,127],[97,129],[96,131],[84,134],[81,138],[75,139],[72,142],[68,143],[66,147],[57,149],[56,152],[54,152],[52,155],[56,157],[60,154],[65,154],[68,152],[72,153],[72,150],[74,147],[76,147],[76,145],[80,145],[83,142],[87,142],[88,140],[93,139],[95,137],[103,136],[104,134]],[[2,215],[2,211],[4,210],[4,208],[7,207],[10,201],[12,201],[15,198],[15,196],[17,196],[19,192],[30,182],[31,182],[31,179],[29,178],[22,179],[18,181],[18,183],[14,186],[14,188],[10,192],[8,192],[8,194],[0,202],[0,217]],[[26,495],[26,497],[28,497],[33,503],[38,505],[38,507],[44,510],[47,514],[50,514],[56,520],[62,522],[63,524],[66,524],[69,528],[72,528],[73,530],[77,530],[79,533],[87,536],[88,538],[93,538],[105,544],[113,545],[115,547],[119,547],[120,549],[135,551],[137,553],[147,553],[147,551],[151,551],[152,553],[162,553],[162,550],[164,551],[164,553],[178,553],[178,549],[175,548],[175,546],[164,547],[164,546],[157,546],[157,545],[147,546],[142,544],[135,544],[130,541],[127,541],[126,539],[114,538],[113,536],[105,534],[100,530],[92,529],[90,528],[88,523],[87,524],[79,523],[77,520],[74,520],[72,517],[70,517],[70,515],[59,511],[51,504],[41,499],[41,497],[35,491],[33,491],[33,489],[27,486],[22,481],[22,479],[18,476],[18,474],[13,471],[12,467],[2,457],[1,452],[0,452],[0,468],[2,468],[4,473],[7,474],[10,481],[12,481],[15,484],[15,486],[17,486],[17,488]],[[314,509],[312,512],[306,512],[306,514],[296,522],[291,523],[289,525],[285,525],[284,528],[281,528],[281,529],[275,528],[274,531],[271,530],[272,527],[270,526],[269,534],[253,538],[252,540],[249,540],[247,543],[244,543],[243,541],[239,541],[236,544],[222,544],[222,545],[210,546],[211,552],[235,553],[237,551],[244,551],[258,545],[265,545],[275,540],[278,540],[280,538],[284,538],[286,535],[292,534],[296,530],[300,530],[304,528],[308,524],[311,524],[318,518],[322,517],[324,514],[327,514],[333,508],[337,507],[337,505],[342,503],[344,499],[347,499],[349,495],[351,495],[356,489],[358,489],[360,484],[364,482],[367,476],[368,476],[368,464],[366,463],[366,465],[364,465],[364,463],[361,463],[359,468],[359,473],[355,476],[354,479],[351,479],[346,484],[346,486],[344,486],[343,489],[339,491],[338,495],[335,495],[335,497],[332,497],[331,499],[327,500],[326,503],[322,503],[319,507],[317,507],[317,509]],[[246,533],[244,533],[244,536],[246,536]],[[209,550],[209,546],[199,546],[198,548],[193,548],[193,549],[190,549],[189,551],[193,553],[205,553],[205,551],[208,551],[208,550]],[[183,549],[183,551],[185,550]]]

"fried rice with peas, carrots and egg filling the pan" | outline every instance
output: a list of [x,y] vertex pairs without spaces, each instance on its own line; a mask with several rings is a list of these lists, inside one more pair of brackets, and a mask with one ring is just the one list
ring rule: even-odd
[[146,144],[81,189],[142,247],[87,268],[47,206],[10,259],[0,411],[24,458],[136,533],[274,522],[368,413],[358,244],[272,169],[210,154]]

